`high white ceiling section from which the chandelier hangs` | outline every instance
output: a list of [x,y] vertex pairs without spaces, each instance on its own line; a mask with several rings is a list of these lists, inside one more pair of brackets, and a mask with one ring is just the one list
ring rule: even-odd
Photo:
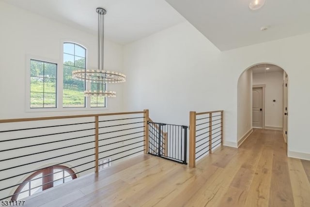
[[186,19],[165,0],[2,0],[97,35],[97,7],[107,10],[105,37],[127,44]]

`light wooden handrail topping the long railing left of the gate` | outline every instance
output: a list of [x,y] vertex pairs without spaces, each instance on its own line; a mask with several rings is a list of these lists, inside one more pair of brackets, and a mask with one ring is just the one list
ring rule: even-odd
[[0,123],[12,123],[12,122],[23,122],[23,121],[41,121],[51,119],[64,119],[64,118],[85,118],[85,117],[103,117],[113,115],[126,115],[126,114],[143,114],[144,111],[133,111],[133,112],[121,112],[121,113],[107,113],[107,114],[85,114],[85,115],[71,115],[71,116],[57,116],[57,117],[37,117],[37,118],[12,118],[12,119],[0,119]]

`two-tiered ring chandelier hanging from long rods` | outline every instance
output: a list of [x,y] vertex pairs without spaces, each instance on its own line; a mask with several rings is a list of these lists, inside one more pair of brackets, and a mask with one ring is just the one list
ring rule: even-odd
[[125,82],[126,75],[103,69],[104,54],[104,15],[107,11],[103,8],[97,8],[98,13],[98,69],[97,70],[77,70],[72,72],[72,77],[76,80],[82,80],[95,84],[96,90],[85,90],[85,96],[105,96],[116,97],[115,91],[105,89],[106,83],[122,83]]

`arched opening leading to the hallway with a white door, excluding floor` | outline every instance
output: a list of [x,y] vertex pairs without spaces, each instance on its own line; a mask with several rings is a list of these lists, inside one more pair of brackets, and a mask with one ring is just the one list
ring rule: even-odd
[[271,63],[248,67],[238,79],[238,146],[253,128],[281,130],[284,142],[288,131],[288,75]]

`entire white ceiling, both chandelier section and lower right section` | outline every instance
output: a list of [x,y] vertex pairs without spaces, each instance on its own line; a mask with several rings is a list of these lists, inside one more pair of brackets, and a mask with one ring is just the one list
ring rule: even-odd
[[266,0],[256,11],[248,8],[250,0],[2,1],[95,35],[95,8],[103,7],[105,37],[119,44],[186,20],[222,51],[310,32],[310,0]]

